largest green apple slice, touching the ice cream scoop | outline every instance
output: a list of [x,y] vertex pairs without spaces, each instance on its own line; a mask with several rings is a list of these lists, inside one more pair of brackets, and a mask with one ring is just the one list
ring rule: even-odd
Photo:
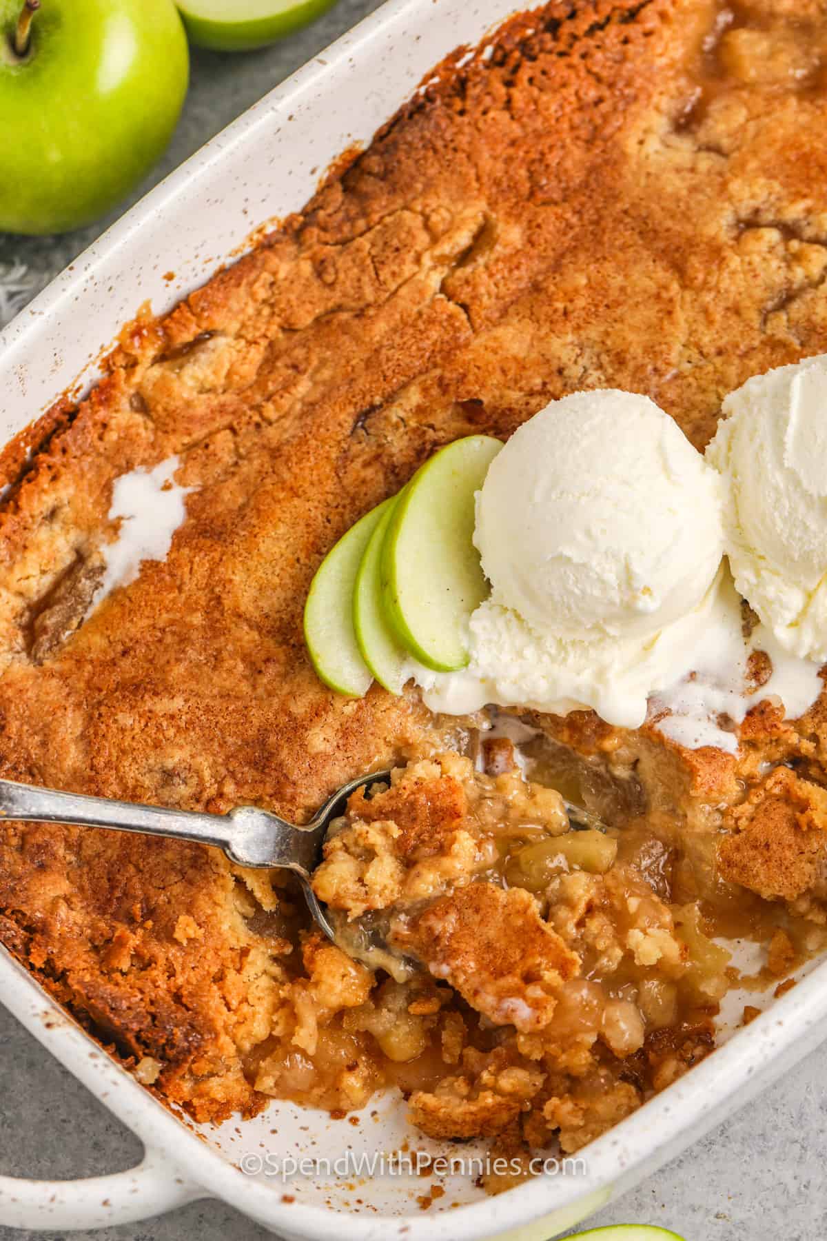
[[467,664],[467,622],[487,594],[472,542],[474,496],[502,444],[469,436],[422,465],[402,493],[382,549],[382,598],[400,642],[427,668]]

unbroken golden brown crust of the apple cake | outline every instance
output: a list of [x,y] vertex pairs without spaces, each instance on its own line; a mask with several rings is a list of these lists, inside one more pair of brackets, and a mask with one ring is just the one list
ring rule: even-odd
[[[17,439],[1,463],[2,774],[306,815],[345,778],[439,748],[413,695],[347,701],[312,675],[301,607],[335,539],[439,444],[506,437],[552,397],[646,392],[701,447],[725,392],[827,347],[825,6],[741,0],[715,42],[718,14],[554,0],[515,20],[265,244],[124,330],[88,400]],[[197,490],[169,557],[81,623],[113,480],[172,453]],[[825,710],[772,759],[821,764]],[[673,762],[699,804],[735,797],[725,756]],[[122,1054],[156,1057],[196,1116],[283,1090],[268,1040],[295,1021],[298,923],[269,877],[7,827],[0,907],[4,942]],[[374,1082],[348,1069],[366,1037],[331,1052],[350,1100]]]

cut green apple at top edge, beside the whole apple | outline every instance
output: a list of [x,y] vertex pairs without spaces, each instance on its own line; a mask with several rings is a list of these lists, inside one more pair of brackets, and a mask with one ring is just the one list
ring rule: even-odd
[[336,0],[179,0],[190,38],[213,52],[250,52],[315,21]]

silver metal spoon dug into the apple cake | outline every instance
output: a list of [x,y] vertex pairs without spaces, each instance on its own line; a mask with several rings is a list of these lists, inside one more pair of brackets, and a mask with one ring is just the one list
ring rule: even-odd
[[310,875],[321,861],[330,823],[345,812],[351,793],[363,784],[387,784],[389,779],[389,771],[371,772],[342,784],[304,827],[288,823],[257,805],[239,805],[229,814],[206,814],[86,797],[82,793],[61,793],[36,784],[0,779],[0,823],[2,819],[16,819],[24,823],[67,823],[77,828],[114,828],[117,831],[214,845],[239,866],[283,866],[299,876],[314,921],[336,943],[336,930],[316,900]]

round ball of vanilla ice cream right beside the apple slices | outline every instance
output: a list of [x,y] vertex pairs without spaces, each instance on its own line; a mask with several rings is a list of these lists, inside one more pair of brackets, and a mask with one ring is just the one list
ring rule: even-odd
[[474,541],[492,602],[557,638],[653,634],[709,591],[722,491],[648,397],[552,401],[515,432],[477,495]]

